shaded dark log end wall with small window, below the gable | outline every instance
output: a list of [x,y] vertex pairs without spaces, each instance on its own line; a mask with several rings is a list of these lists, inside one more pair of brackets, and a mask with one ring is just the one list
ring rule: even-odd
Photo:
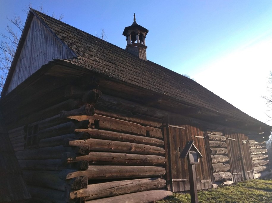
[[[88,94],[80,95],[79,98],[61,99],[65,101],[45,109],[40,108],[26,117],[20,112],[22,113],[20,117],[24,117],[24,119],[19,119],[16,125],[18,126],[18,123],[23,125],[9,129],[15,154],[23,169],[23,177],[29,186],[33,199],[37,202],[81,201],[82,198],[70,200],[70,191],[88,186],[88,176],[66,178],[68,173],[87,170],[88,160],[67,162],[67,154],[71,155],[69,157],[85,156],[89,154],[90,148],[88,146],[65,146],[64,142],[67,139],[84,140],[90,138],[89,134],[76,132],[76,130],[90,128],[93,120],[69,118],[69,116],[75,115],[92,116],[94,114],[92,104],[96,102],[101,92],[96,90],[84,92]],[[62,95],[65,93],[65,88],[63,88]],[[44,105],[47,102],[45,100]],[[30,109],[29,112],[32,110]],[[9,119],[7,122],[10,122]],[[26,146],[26,140],[31,134],[29,133],[30,129],[32,133],[37,135],[37,143],[33,146]],[[165,161],[160,160],[160,162],[164,163]]]

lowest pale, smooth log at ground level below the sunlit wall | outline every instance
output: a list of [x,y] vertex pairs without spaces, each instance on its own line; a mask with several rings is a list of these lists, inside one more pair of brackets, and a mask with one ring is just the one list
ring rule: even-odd
[[150,190],[150,191],[124,194],[124,195],[97,199],[97,200],[89,200],[87,201],[87,203],[120,203],[120,202],[149,203],[149,202],[161,200],[171,194],[172,192],[167,190]]

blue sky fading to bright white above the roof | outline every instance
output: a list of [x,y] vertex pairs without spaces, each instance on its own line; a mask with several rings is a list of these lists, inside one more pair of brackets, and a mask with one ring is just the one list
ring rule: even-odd
[[[266,122],[272,69],[272,1],[17,1],[0,0],[0,32],[7,17],[31,2],[48,15],[125,48],[122,32],[133,22],[147,28],[147,59],[187,74],[247,114]],[[272,125],[272,123],[268,123]]]

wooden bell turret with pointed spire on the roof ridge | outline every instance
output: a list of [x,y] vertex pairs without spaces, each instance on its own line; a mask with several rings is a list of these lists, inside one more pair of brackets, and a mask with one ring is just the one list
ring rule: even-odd
[[126,37],[127,46],[126,51],[139,57],[140,59],[146,60],[146,48],[145,37],[148,30],[141,25],[138,25],[135,18],[131,26],[125,27],[123,35]]

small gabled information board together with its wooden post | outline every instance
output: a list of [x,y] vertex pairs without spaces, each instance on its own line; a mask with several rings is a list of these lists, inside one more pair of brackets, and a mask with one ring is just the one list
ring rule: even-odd
[[188,141],[183,151],[180,153],[180,158],[186,158],[186,157],[187,157],[188,170],[189,170],[191,203],[198,203],[195,164],[199,164],[199,158],[202,158],[203,156],[194,145],[194,141]]

